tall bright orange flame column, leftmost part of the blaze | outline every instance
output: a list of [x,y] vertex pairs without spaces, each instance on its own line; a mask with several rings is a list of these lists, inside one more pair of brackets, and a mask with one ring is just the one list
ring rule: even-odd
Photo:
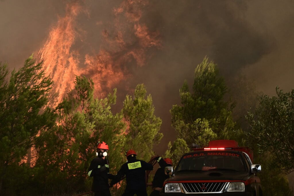
[[66,15],[59,18],[44,47],[38,52],[38,57],[44,61],[45,72],[50,73],[54,81],[53,91],[59,95],[56,103],[61,102],[66,91],[73,87],[75,74],[78,74],[78,51],[71,51],[71,46],[78,36],[75,19],[80,11],[79,4],[68,4]]

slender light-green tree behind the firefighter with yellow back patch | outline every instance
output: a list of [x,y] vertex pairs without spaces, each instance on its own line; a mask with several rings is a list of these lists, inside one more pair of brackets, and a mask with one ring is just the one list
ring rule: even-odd
[[153,144],[157,144],[163,134],[159,133],[162,121],[154,115],[152,97],[150,94],[146,97],[146,92],[145,86],[138,84],[133,97],[126,96],[122,112],[128,125],[125,150],[133,149],[139,158],[149,161]]

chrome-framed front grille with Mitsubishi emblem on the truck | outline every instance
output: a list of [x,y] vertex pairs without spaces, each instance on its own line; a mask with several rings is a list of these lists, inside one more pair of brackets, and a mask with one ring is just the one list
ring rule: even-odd
[[182,183],[187,193],[222,193],[226,182],[197,182]]

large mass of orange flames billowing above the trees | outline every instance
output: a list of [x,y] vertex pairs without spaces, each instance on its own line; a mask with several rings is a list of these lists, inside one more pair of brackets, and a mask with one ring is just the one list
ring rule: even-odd
[[[104,29],[101,32],[103,44],[99,46],[100,49],[92,49],[88,54],[83,54],[81,48],[76,46],[83,43],[88,30],[81,29],[77,21],[82,13],[91,13],[78,2],[67,4],[66,14],[59,17],[44,47],[37,52],[38,59],[44,61],[46,74],[50,74],[54,81],[52,91],[57,98],[53,106],[60,103],[74,87],[75,75],[92,78],[95,95],[102,97],[116,84],[131,77],[130,64],[143,66],[149,58],[147,52],[161,47],[159,34],[150,32],[140,21],[147,4],[146,0],[126,0],[114,8],[114,29]],[[97,19],[96,25],[102,24]]]

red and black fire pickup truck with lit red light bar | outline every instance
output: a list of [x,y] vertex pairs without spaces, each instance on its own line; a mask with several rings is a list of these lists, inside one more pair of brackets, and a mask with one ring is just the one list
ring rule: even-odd
[[161,196],[262,196],[261,166],[252,164],[253,153],[234,140],[213,140],[207,148],[184,154],[166,179]]

